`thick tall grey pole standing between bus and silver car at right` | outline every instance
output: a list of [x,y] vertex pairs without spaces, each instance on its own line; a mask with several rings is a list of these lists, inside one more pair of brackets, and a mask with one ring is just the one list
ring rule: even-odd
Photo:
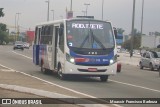
[[131,51],[130,51],[130,57],[133,56],[133,44],[134,44],[134,18],[135,18],[135,2],[136,0],[133,0],[133,14],[132,14],[132,34],[131,34]]

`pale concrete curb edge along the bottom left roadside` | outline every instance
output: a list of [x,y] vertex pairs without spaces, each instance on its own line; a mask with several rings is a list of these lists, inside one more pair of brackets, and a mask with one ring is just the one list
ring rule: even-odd
[[[23,92],[23,93],[30,93],[46,98],[62,98],[60,99],[61,101],[64,101],[69,104],[76,104],[77,100],[67,100],[67,98],[77,98],[73,96],[68,96],[68,95],[63,95],[55,92],[50,92],[50,91],[44,91],[44,90],[38,90],[34,88],[28,88],[28,87],[22,87],[22,86],[17,86],[17,85],[8,85],[8,84],[0,84],[0,88],[7,89],[7,90],[13,90],[13,91],[18,91],[18,92]],[[65,99],[66,98],[66,99]],[[95,104],[93,101],[90,100],[83,100],[81,99],[82,102],[87,102],[88,104],[76,104],[77,106],[81,107],[108,107],[103,104]],[[93,105],[94,104],[94,105]],[[116,105],[114,105],[116,106]]]

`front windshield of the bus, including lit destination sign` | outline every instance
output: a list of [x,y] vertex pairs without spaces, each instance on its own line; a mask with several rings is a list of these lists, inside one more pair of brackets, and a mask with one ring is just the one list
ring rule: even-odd
[[95,20],[67,22],[67,44],[71,48],[104,50],[114,48],[111,24]]

